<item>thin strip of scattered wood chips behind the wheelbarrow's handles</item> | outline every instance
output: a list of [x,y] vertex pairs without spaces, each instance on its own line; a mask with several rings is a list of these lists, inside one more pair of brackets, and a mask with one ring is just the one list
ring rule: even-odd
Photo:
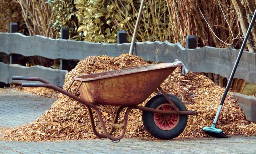
[[55,91],[50,88],[45,87],[21,87],[18,84],[11,85],[11,88],[26,92],[26,93],[32,93],[36,94],[37,96],[47,97],[47,98],[57,98],[60,94],[58,91]]

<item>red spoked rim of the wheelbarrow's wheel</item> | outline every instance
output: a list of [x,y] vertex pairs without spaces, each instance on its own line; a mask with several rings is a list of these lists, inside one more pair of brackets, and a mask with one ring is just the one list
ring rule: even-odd
[[[159,110],[175,110],[171,104],[165,103],[157,107]],[[160,114],[154,113],[154,122],[158,126],[158,128],[162,130],[171,130],[173,129],[180,120],[179,114]]]

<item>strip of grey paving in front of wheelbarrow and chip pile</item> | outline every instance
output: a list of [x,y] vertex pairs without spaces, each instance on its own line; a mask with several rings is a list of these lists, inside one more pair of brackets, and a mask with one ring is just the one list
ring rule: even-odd
[[0,153],[256,153],[256,137],[229,139],[199,138],[180,140],[122,139],[79,140],[55,142],[5,142],[0,141]]

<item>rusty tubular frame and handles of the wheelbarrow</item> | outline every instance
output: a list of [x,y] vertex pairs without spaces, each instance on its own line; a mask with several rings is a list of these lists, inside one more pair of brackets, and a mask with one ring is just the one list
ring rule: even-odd
[[[73,98],[74,100],[84,104],[88,108],[88,114],[89,114],[89,118],[90,118],[90,121],[91,121],[91,125],[92,125],[92,129],[93,129],[94,134],[97,137],[99,137],[99,138],[109,138],[112,141],[118,141],[118,140],[120,140],[124,136],[125,131],[126,131],[126,126],[127,126],[127,121],[128,121],[128,115],[129,115],[129,112],[132,109],[139,109],[139,110],[144,110],[144,111],[149,111],[149,112],[154,112],[154,113],[160,113],[160,114],[186,114],[186,115],[195,115],[196,114],[195,111],[190,111],[190,110],[188,110],[188,111],[180,111],[178,109],[178,107],[173,103],[173,101],[163,91],[163,89],[161,87],[158,87],[157,89],[163,94],[163,96],[168,100],[168,102],[174,107],[175,110],[166,111],[166,110],[159,110],[159,109],[154,109],[154,108],[149,108],[149,107],[144,107],[144,106],[120,106],[117,109],[117,112],[116,112],[113,124],[111,125],[111,129],[108,132],[99,108],[96,105],[94,105],[94,104],[92,104],[90,102],[87,102],[84,99],[79,98],[79,97],[71,94],[70,92],[68,92],[68,90],[71,87],[71,85],[69,86],[69,88],[66,91],[66,90],[64,90],[64,89],[62,89],[62,88],[60,88],[58,86],[53,85],[52,83],[50,83],[50,82],[48,82],[48,81],[46,81],[44,79],[37,78],[37,77],[12,76],[12,80],[39,81],[39,82],[42,82],[43,84],[22,83],[21,85],[22,85],[22,87],[46,87],[46,88],[52,88],[52,89],[54,89],[54,90],[56,90],[58,92],[63,93],[64,95],[67,95],[67,96]],[[74,81],[72,82],[72,84],[73,83],[74,83]],[[78,87],[78,89],[79,89],[79,87]],[[156,92],[159,94],[159,91],[157,89],[156,89]],[[95,109],[95,111],[97,113],[97,116],[98,116],[99,121],[100,121],[100,125],[101,125],[105,135],[98,133],[97,130],[96,130],[95,122],[94,122],[94,117],[93,117],[93,114],[92,114],[92,108]],[[123,125],[118,125],[116,123],[117,123],[119,114],[120,114],[121,110],[124,109],[124,108],[127,108],[127,109],[126,109],[125,114],[124,114]],[[122,132],[121,132],[121,134],[118,137],[111,136],[112,133],[114,132],[115,128],[121,128],[122,129]]]

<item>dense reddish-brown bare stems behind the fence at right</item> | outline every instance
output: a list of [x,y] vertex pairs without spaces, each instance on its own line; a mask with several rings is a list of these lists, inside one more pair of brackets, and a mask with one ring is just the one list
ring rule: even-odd
[[[255,0],[166,0],[166,2],[170,22],[173,23],[171,27],[173,42],[179,41],[184,46],[186,35],[195,35],[198,47],[237,49],[242,45],[247,25],[253,14],[251,8],[255,8],[256,4]],[[244,20],[241,21],[241,18]],[[256,38],[255,30],[252,30],[252,34]],[[247,47],[254,46],[254,42],[251,41],[254,37],[250,38]],[[249,51],[255,52],[255,46]]]

